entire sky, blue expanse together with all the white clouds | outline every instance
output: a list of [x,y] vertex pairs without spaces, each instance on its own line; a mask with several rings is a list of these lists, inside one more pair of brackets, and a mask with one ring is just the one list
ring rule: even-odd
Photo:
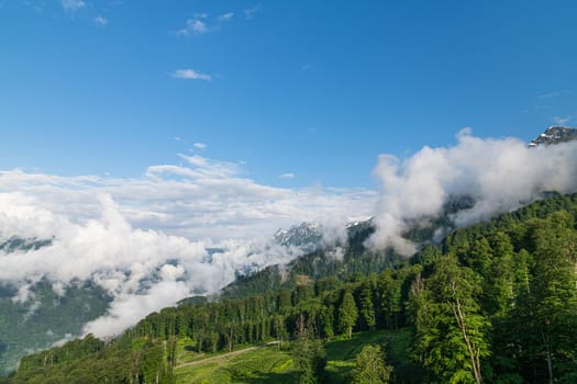
[[0,241],[54,239],[1,257],[0,281],[26,302],[89,280],[113,302],[85,331],[119,335],[300,255],[278,228],[332,244],[374,217],[367,245],[410,255],[402,235],[451,196],[475,199],[465,226],[575,192],[577,142],[526,142],[577,124],[576,11],[0,0]]

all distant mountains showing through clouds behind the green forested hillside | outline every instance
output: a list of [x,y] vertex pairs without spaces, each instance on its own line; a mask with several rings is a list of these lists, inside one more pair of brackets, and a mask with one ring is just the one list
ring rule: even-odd
[[[577,139],[577,129],[551,126],[529,146],[554,145]],[[544,191],[545,192],[545,191]],[[414,225],[403,236],[421,246],[439,242],[455,229],[452,215],[470,208],[470,196],[451,196],[439,217],[428,225]],[[323,227],[315,223],[301,223],[289,229],[279,229],[273,238],[284,247],[295,247],[302,256],[287,264],[271,266],[260,270],[243,271],[230,285],[222,289],[221,297],[243,297],[264,289],[278,289],[284,284],[297,286],[301,279],[335,276],[342,280],[367,275],[391,267],[402,260],[393,249],[369,250],[367,239],[376,230],[374,217],[343,224],[344,242],[328,242]],[[53,239],[10,237],[0,242],[0,257],[24,253],[49,247]],[[0,283],[0,373],[14,369],[18,359],[31,351],[48,348],[58,340],[79,336],[82,326],[103,315],[110,303],[96,284],[78,281],[64,295],[54,292],[52,282],[36,282],[29,294],[35,301],[14,300],[18,286]],[[197,298],[197,301],[202,301]]]

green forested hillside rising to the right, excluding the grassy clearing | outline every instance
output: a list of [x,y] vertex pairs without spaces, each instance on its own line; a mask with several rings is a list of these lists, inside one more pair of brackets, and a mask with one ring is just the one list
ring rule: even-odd
[[370,253],[358,239],[343,258],[315,252],[286,273],[245,276],[220,300],[165,308],[116,339],[87,336],[29,355],[7,382],[173,383],[180,350],[271,340],[292,349],[298,382],[321,382],[323,340],[402,329],[407,361],[366,348],[342,380],[360,377],[363,359],[376,359],[380,382],[575,383],[576,224],[577,194],[555,195],[458,229],[410,259]]

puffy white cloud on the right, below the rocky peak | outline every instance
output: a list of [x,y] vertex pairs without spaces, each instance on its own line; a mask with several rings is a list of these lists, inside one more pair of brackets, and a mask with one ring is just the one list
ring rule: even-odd
[[368,244],[410,255],[415,245],[402,234],[440,215],[451,197],[475,200],[452,217],[465,226],[515,210],[545,191],[577,191],[577,142],[528,148],[515,138],[482,139],[466,128],[453,147],[424,147],[403,161],[381,155],[374,174],[380,197],[377,231]]

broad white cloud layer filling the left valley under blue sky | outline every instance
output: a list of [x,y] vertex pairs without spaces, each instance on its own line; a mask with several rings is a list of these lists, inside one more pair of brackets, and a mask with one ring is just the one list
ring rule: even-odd
[[375,203],[373,191],[274,188],[244,178],[240,162],[179,158],[181,166],[151,166],[130,179],[0,171],[0,240],[53,238],[0,257],[0,281],[16,285],[14,300],[33,298],[30,287],[43,278],[57,294],[91,281],[113,301],[85,330],[119,334],[149,312],[215,292],[235,271],[298,256],[269,242],[278,228],[342,227]]

